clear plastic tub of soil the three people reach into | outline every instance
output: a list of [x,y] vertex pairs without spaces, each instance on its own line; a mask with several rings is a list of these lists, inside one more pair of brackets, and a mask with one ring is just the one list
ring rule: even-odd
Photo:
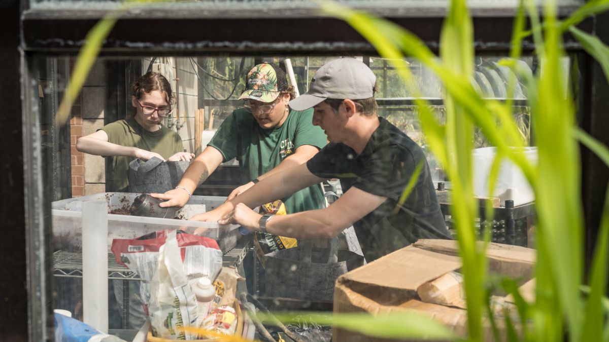
[[[82,203],[83,201],[107,201],[108,211],[127,209],[136,197],[141,194],[125,192],[104,192],[102,194],[68,198],[51,203],[53,222],[54,248],[60,250],[82,249]],[[199,228],[206,230],[200,234],[218,240],[223,250],[234,245],[236,225],[220,226],[216,222],[199,222],[184,220],[199,212],[209,211],[224,203],[225,197],[192,196],[184,208],[176,212],[178,218],[141,217],[130,215],[108,214],[108,251],[113,239],[133,239],[160,229],[181,229],[193,233]],[[231,240],[221,243],[222,240]],[[236,239],[234,239],[236,242]],[[223,246],[224,245],[224,246]]]

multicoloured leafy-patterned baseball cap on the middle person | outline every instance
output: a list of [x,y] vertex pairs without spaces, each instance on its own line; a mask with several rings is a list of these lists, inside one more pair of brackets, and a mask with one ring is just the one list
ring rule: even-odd
[[262,63],[247,73],[245,91],[239,96],[239,100],[273,102],[280,91],[284,90],[287,90],[286,73],[272,63]]

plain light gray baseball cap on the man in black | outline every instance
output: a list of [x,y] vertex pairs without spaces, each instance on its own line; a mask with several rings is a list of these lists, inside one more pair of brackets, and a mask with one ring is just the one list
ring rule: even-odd
[[307,110],[325,99],[361,100],[374,96],[376,76],[355,58],[331,60],[319,68],[309,91],[290,101],[293,110]]

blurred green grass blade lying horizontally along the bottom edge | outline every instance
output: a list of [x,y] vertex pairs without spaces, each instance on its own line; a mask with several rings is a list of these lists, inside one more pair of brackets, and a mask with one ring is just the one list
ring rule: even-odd
[[[361,332],[371,337],[382,338],[420,338],[426,340],[457,340],[457,336],[446,326],[434,321],[429,315],[419,312],[391,313],[390,315],[370,315],[368,313],[341,313],[332,317],[319,312],[278,313],[273,315],[283,323],[294,321],[299,317],[309,316],[307,321],[320,325],[332,325],[354,332]],[[275,321],[262,312],[258,318],[265,323]]]

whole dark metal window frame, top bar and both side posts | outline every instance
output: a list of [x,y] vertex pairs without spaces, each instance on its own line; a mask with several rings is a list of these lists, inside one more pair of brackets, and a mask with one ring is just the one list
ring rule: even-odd
[[[560,9],[560,15],[572,13],[571,7]],[[379,9],[375,14],[389,18],[418,35],[437,51],[444,9]],[[276,13],[277,15],[269,15]],[[473,10],[474,49],[476,52],[507,52],[510,47],[513,9]],[[50,239],[44,239],[50,228],[50,208],[44,193],[41,175],[40,142],[36,126],[37,111],[29,99],[33,94],[30,74],[37,56],[76,55],[85,35],[103,12],[90,10],[37,10],[29,2],[0,2],[0,18],[5,25],[1,40],[0,78],[1,103],[5,115],[0,120],[5,159],[0,164],[4,176],[0,186],[0,208],[5,214],[4,237],[0,239],[0,268],[3,293],[0,298],[0,340],[52,340],[52,316],[49,287],[45,277],[51,274],[48,265]],[[146,19],[141,19],[146,18]],[[154,19],[154,20],[151,20]],[[264,32],[256,27],[264,18]],[[609,16],[588,19],[580,27],[596,32],[609,40]],[[133,30],[138,27],[138,30]],[[290,27],[290,30],[286,30]],[[167,29],[171,28],[171,29]],[[183,32],[188,32],[185,35]],[[268,34],[271,32],[271,34]],[[263,34],[264,33],[264,34]],[[572,37],[565,37],[569,52],[580,55],[581,127],[605,144],[609,144],[609,86],[602,69],[580,49]],[[524,51],[532,51],[530,40]],[[140,10],[123,16],[105,41],[104,56],[141,55],[273,55],[312,54],[375,55],[376,52],[346,23],[312,10],[213,11],[213,10]],[[20,84],[21,86],[16,86]],[[9,114],[10,113],[10,114]],[[21,113],[19,115],[18,113]],[[586,257],[588,265],[596,239],[604,190],[609,172],[585,148],[582,148],[582,200],[586,220]],[[47,229],[47,231],[45,231]],[[42,253],[41,253],[42,251]]]

